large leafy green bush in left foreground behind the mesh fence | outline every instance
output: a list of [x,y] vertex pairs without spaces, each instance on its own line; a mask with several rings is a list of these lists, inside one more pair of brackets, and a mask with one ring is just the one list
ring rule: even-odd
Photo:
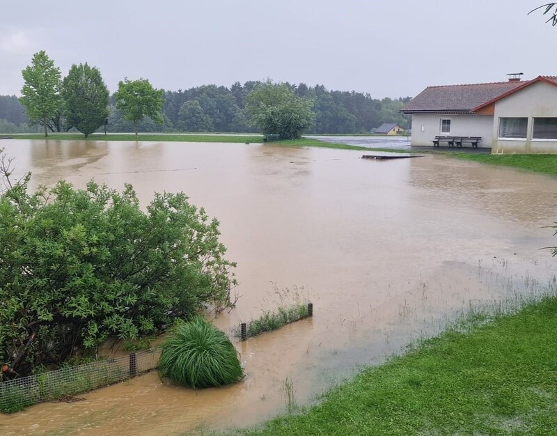
[[[234,305],[219,222],[187,196],[155,194],[146,212],[131,185],[61,181],[29,194],[30,176],[0,196],[2,377],[59,366],[109,336],[155,334],[207,306]],[[1,380],[1,379],[0,379]]]

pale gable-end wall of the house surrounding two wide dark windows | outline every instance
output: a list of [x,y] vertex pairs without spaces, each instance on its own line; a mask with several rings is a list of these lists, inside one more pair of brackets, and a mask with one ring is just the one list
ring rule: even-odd
[[[502,117],[528,118],[526,139],[499,139],[499,118]],[[532,139],[533,118],[536,117],[557,118],[557,86],[538,81],[496,102],[493,153],[557,153],[557,140]]]

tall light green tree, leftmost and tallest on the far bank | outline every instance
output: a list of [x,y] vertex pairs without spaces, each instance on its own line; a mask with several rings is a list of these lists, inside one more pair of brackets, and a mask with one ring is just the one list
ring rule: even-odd
[[51,120],[61,112],[62,98],[60,68],[54,66],[44,50],[33,55],[31,65],[23,71],[24,85],[20,101],[25,107],[29,123],[45,128],[45,137]]

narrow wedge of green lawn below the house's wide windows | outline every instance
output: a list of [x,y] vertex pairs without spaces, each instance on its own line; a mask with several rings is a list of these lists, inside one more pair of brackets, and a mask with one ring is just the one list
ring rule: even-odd
[[458,159],[473,160],[482,164],[512,166],[535,173],[557,176],[557,155],[487,155],[473,153],[447,153]]

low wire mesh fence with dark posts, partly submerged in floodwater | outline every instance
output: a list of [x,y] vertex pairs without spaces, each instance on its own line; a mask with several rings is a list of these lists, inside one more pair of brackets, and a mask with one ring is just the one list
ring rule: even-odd
[[[313,304],[300,303],[281,307],[277,311],[265,311],[259,318],[241,322],[224,332],[231,341],[240,342],[308,316],[313,316]],[[127,380],[157,368],[161,352],[160,347],[150,348],[124,357],[102,359],[1,382],[0,412],[17,412],[42,401],[71,397]]]

